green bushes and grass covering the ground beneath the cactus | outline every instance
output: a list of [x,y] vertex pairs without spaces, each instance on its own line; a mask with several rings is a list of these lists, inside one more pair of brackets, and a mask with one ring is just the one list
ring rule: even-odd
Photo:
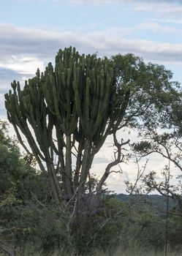
[[[96,211],[83,201],[82,210],[73,215],[75,205],[55,204],[48,177],[36,170],[34,158],[20,154],[6,132],[1,123],[0,255],[163,255],[162,196],[117,198],[106,193]],[[181,206],[172,202],[170,206],[168,255],[178,256]]]

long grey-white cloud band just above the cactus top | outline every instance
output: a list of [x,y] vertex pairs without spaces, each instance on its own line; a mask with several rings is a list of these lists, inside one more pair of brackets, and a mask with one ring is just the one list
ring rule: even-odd
[[[23,67],[26,63],[29,66],[32,60],[34,64],[43,66],[43,63],[53,59],[59,48],[69,45],[75,46],[81,53],[98,52],[100,56],[134,53],[150,61],[182,64],[182,44],[127,39],[122,29],[120,31],[118,28],[83,33],[78,30],[48,31],[0,24],[0,34],[0,67],[6,64],[5,67],[12,68],[16,63],[19,65],[13,68],[16,70],[25,69]],[[14,64],[10,64],[13,58]],[[24,72],[29,70],[26,69]]]

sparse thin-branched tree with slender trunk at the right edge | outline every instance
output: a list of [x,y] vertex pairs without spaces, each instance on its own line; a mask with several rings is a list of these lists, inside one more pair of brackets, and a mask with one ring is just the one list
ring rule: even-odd
[[[178,106],[179,109],[181,106]],[[176,107],[175,107],[176,108]],[[172,116],[170,117],[171,123],[170,128],[167,132],[157,131],[156,129],[151,130],[151,132],[145,132],[143,136],[144,140],[139,143],[134,143],[133,149],[137,154],[140,154],[141,157],[146,157],[150,154],[157,153],[162,156],[164,159],[168,159],[169,165],[164,166],[164,170],[162,170],[163,181],[158,181],[156,178],[156,171],[151,171],[147,175],[141,177],[142,186],[145,187],[147,192],[157,191],[162,196],[166,197],[166,220],[165,220],[165,246],[164,252],[167,255],[167,245],[170,242],[170,246],[176,246],[178,241],[178,235],[175,237],[174,242],[174,233],[179,233],[179,223],[181,222],[181,176],[178,176],[178,184],[170,184],[171,169],[170,163],[173,164],[173,167],[178,167],[179,170],[182,170],[181,159],[182,159],[182,151],[181,151],[181,121],[178,116],[175,116],[175,111],[172,112]],[[169,208],[169,200],[172,198],[177,201],[177,209],[178,214],[174,211],[170,211]],[[180,213],[180,214],[179,214]],[[174,216],[175,217],[174,217]],[[177,215],[177,217],[176,217]],[[174,221],[175,219],[175,221]],[[176,221],[177,220],[177,221]],[[172,221],[172,223],[171,223]],[[176,222],[176,230],[174,228],[174,222]],[[181,239],[179,239],[181,240]]]

